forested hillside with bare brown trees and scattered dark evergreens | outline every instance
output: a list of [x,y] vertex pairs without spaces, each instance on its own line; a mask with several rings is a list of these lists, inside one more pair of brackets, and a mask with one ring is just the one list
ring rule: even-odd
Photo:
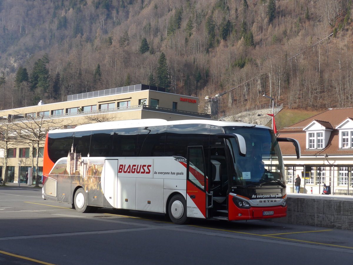
[[352,0],[0,0],[0,109],[128,84],[353,106]]

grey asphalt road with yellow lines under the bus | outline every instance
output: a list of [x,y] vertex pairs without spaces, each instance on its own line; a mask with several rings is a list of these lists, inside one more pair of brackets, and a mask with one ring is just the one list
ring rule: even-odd
[[352,264],[353,231],[163,214],[78,213],[41,189],[0,187],[0,264]]

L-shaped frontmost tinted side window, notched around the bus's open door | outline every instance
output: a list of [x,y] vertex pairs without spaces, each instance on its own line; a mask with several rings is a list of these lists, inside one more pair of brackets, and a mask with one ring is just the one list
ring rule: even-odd
[[209,137],[209,124],[168,125],[166,155],[176,155],[186,158],[187,146],[208,146]]

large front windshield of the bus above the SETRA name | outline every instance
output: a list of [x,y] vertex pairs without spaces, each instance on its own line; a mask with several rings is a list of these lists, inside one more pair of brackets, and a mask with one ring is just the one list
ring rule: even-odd
[[281,185],[285,188],[282,154],[272,130],[235,126],[224,128],[225,133],[240,134],[246,142],[246,155],[243,157],[238,152],[235,138],[227,140],[234,163],[232,186]]

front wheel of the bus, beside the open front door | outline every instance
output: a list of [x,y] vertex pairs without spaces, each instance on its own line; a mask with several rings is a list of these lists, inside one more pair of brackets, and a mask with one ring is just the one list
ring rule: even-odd
[[180,194],[174,195],[168,204],[168,214],[174,224],[186,224],[186,201]]

